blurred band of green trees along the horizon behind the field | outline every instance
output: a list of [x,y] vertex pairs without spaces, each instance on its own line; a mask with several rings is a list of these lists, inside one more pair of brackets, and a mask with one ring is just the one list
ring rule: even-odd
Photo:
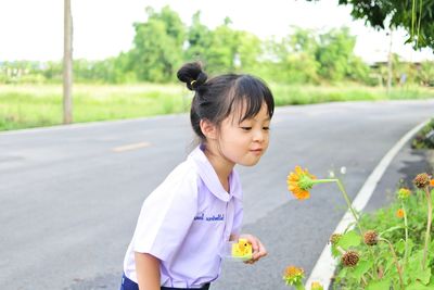
[[[318,33],[292,27],[283,38],[259,39],[252,33],[234,29],[228,17],[221,25],[208,28],[201,22],[200,12],[194,13],[189,27],[169,7],[159,11],[146,8],[144,15],[148,16],[143,22],[133,25],[131,50],[101,61],[75,60],[74,79],[111,84],[175,81],[179,66],[193,60],[201,61],[210,75],[244,72],[273,83],[352,80],[375,85],[387,79],[384,65],[373,72],[354,54],[356,37],[348,28]],[[395,85],[400,84],[403,74],[408,83],[433,85],[432,63],[414,66],[394,58],[393,66]],[[0,83],[61,79],[61,62],[0,63]]]

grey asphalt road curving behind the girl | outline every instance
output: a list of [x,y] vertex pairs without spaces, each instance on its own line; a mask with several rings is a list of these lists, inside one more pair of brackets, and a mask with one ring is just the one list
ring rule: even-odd
[[[433,116],[434,100],[279,108],[266,155],[238,168],[243,231],[269,255],[255,265],[227,262],[212,288],[288,289],[289,264],[308,276],[346,207],[333,185],[294,200],[288,173],[299,164],[326,177],[345,166],[354,197],[383,155]],[[0,289],[118,289],[141,203],[192,148],[189,126],[187,115],[174,115],[0,134]],[[423,162],[405,153],[369,209],[387,202],[408,162]]]

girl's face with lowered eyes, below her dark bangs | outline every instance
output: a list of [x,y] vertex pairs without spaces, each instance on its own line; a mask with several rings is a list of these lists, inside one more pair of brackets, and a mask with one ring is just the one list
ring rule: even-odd
[[230,163],[252,166],[258,163],[268,148],[270,116],[266,103],[254,117],[241,123],[240,113],[244,112],[239,110],[222,121],[219,150]]

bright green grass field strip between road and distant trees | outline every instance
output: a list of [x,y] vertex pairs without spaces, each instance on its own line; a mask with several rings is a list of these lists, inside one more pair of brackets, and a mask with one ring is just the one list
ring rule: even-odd
[[[426,99],[434,89],[271,84],[277,105],[331,101]],[[181,85],[80,85],[73,87],[74,122],[135,118],[187,112],[192,93]],[[62,124],[61,85],[0,85],[0,130]]]

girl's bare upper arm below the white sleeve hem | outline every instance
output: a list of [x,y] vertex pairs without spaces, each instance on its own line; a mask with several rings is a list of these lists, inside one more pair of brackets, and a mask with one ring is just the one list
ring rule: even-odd
[[135,253],[140,290],[159,290],[159,260],[146,253]]

